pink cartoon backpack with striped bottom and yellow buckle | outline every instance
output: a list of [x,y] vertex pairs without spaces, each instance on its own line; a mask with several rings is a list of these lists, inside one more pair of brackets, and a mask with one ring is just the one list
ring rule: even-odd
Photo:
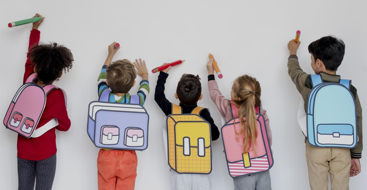
[[255,145],[251,145],[250,151],[247,153],[243,152],[243,142],[239,142],[243,139],[241,136],[239,138],[241,131],[240,119],[246,122],[246,117],[236,117],[238,113],[237,107],[233,104],[230,104],[230,107],[233,118],[222,127],[223,146],[229,175],[232,178],[238,178],[268,171],[273,166],[273,155],[270,149],[265,119],[260,113],[260,107],[255,107],[257,116],[257,137],[255,139]]

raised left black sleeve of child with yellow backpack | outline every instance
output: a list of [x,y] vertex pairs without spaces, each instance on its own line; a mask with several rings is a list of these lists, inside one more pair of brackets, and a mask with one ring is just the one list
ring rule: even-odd
[[172,111],[171,110],[172,104],[170,101],[167,100],[166,95],[164,95],[164,84],[166,83],[167,77],[168,77],[167,73],[162,71],[159,73],[156,92],[154,93],[154,100],[161,108],[161,110],[164,112],[164,114],[166,114],[166,116],[170,115]]

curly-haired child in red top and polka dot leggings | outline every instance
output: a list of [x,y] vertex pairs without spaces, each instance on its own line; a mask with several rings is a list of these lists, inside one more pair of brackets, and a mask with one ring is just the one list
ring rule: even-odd
[[[36,16],[41,16],[36,14]],[[41,16],[42,17],[42,16]],[[68,48],[51,44],[39,44],[38,27],[43,21],[33,23],[29,37],[29,48],[23,83],[29,75],[37,73],[37,84],[46,86],[57,81],[63,72],[73,66],[73,55]],[[36,179],[36,190],[51,189],[56,170],[56,135],[55,128],[67,131],[70,120],[65,107],[62,90],[53,89],[47,94],[47,101],[37,128],[57,118],[59,125],[48,130],[37,138],[25,138],[18,134],[18,189],[33,190]]]

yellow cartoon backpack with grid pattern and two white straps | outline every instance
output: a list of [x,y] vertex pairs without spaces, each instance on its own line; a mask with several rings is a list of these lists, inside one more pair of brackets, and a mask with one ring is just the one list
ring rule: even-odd
[[179,174],[211,172],[211,129],[199,116],[203,109],[182,114],[182,108],[172,104],[172,114],[167,116],[168,165]]

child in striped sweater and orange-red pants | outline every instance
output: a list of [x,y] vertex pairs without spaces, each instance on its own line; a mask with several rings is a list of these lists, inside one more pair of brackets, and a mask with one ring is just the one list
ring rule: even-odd
[[[135,85],[137,74],[142,77],[138,96],[144,105],[149,94],[148,69],[145,60],[135,60],[134,65],[127,59],[112,62],[119,48],[113,42],[108,46],[108,56],[98,77],[98,96],[110,88],[112,94],[109,102],[130,103],[131,87]],[[112,62],[112,63],[111,63]],[[97,158],[99,190],[129,190],[135,187],[138,158],[135,150],[100,149]]]

